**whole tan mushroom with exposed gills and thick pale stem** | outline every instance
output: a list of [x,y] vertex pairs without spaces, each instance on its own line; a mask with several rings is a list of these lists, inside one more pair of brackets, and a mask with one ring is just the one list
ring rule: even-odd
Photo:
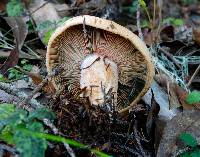
[[[84,15],[67,20],[50,37],[47,71],[63,70],[53,78],[55,88],[67,87],[93,105],[112,104],[129,110],[148,90],[154,66],[145,43],[125,27]],[[111,106],[112,107],[112,106]]]

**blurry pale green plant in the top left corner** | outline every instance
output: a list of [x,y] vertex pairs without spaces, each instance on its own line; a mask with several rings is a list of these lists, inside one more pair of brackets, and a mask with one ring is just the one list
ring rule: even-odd
[[23,6],[20,0],[10,0],[6,5],[8,16],[22,16]]

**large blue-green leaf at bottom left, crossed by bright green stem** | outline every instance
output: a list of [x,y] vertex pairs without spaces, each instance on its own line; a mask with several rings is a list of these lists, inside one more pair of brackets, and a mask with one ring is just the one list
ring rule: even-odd
[[[25,127],[20,127],[24,128]],[[39,122],[33,122],[26,125],[26,128],[31,132],[43,132],[43,126]],[[44,138],[34,138],[25,134],[20,129],[16,128],[14,141],[17,150],[22,157],[44,157],[47,148],[47,141]]]

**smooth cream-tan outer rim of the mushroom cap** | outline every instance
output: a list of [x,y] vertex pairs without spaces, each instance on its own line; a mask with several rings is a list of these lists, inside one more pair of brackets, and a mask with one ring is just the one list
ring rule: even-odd
[[[60,27],[58,27],[55,32],[52,34],[52,36],[49,39],[48,45],[47,45],[47,54],[46,54],[46,66],[47,66],[47,71],[48,73],[51,72],[51,66],[49,65],[49,60],[50,60],[50,55],[49,51],[51,48],[51,45],[54,41],[54,39],[62,34],[67,28],[75,26],[75,25],[80,25],[83,24],[83,21],[85,19],[85,25],[92,26],[95,28],[103,29],[105,31],[120,35],[121,37],[124,37],[128,39],[138,51],[144,56],[144,59],[146,60],[147,64],[147,75],[146,75],[146,83],[142,91],[138,94],[138,96],[134,99],[134,101],[126,108],[119,110],[119,113],[124,113],[127,112],[131,107],[133,107],[139,100],[140,98],[147,92],[149,89],[152,81],[153,81],[153,76],[155,73],[154,70],[154,65],[152,63],[152,58],[150,55],[150,52],[148,51],[145,43],[133,32],[128,30],[127,28],[113,22],[107,19],[95,17],[95,16],[90,16],[90,15],[82,15],[82,16],[76,16],[73,17],[66,22],[64,22]],[[55,82],[53,82],[54,86]]]

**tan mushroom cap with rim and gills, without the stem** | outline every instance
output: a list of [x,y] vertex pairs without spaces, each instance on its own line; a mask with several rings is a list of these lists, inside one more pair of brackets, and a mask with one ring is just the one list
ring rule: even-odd
[[[84,36],[84,26],[88,38]],[[66,86],[74,94],[80,94],[80,66],[91,53],[116,63],[117,108],[119,113],[127,111],[146,93],[153,80],[154,66],[145,43],[113,21],[89,15],[73,17],[58,27],[48,42],[47,71],[50,73],[57,66],[64,69],[53,78],[55,88]]]

